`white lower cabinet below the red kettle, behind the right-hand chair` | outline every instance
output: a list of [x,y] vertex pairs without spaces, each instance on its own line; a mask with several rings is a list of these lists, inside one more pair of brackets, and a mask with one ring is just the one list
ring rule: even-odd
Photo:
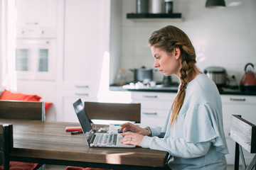
[[[256,124],[256,96],[221,95],[223,103],[223,125],[230,154],[226,155],[228,164],[235,161],[235,142],[230,138],[231,115],[242,115],[242,118]],[[245,162],[250,162],[252,155],[244,150]]]

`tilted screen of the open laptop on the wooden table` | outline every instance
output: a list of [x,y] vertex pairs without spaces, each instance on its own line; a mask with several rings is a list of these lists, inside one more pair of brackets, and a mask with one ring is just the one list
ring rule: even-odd
[[85,134],[85,138],[88,144],[90,144],[90,139],[94,132],[92,130],[90,120],[88,119],[87,114],[85,113],[85,107],[83,106],[81,99],[75,101],[75,103],[73,103],[73,107],[75,109],[75,113],[78,115],[78,120],[81,125],[82,132]]

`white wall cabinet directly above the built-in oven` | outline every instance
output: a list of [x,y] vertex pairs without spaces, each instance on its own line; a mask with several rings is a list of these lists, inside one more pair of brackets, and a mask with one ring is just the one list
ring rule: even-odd
[[55,38],[58,0],[18,0],[17,37]]

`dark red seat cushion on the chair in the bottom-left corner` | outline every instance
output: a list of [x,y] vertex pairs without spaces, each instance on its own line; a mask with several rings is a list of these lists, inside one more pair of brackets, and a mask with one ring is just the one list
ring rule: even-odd
[[[10,170],[32,170],[36,168],[38,164],[28,162],[10,162]],[[4,166],[0,166],[0,170],[4,170]]]

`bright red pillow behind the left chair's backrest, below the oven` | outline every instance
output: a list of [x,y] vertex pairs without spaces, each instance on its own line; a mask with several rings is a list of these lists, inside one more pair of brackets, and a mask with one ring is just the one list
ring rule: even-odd
[[[40,101],[41,97],[37,95],[30,95],[30,94],[20,94],[20,93],[13,93],[8,90],[4,90],[3,94],[1,95],[0,100],[6,101]],[[45,102],[45,111],[52,106],[53,103]]]

